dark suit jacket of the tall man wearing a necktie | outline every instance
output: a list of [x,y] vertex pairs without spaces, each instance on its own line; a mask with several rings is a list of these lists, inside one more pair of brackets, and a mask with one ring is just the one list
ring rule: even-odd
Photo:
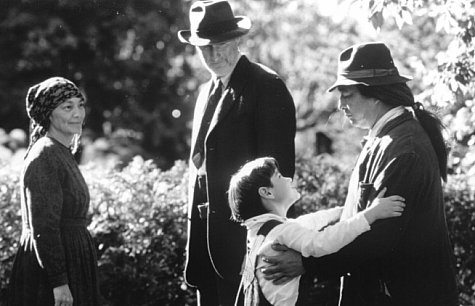
[[[193,152],[212,81],[202,86],[193,117]],[[199,232],[194,189],[197,169],[190,159],[188,245],[185,279],[199,286],[204,278],[203,256],[209,256],[216,273],[239,282],[246,251],[246,230],[231,221],[227,189],[231,176],[247,161],[272,156],[284,175],[295,170],[295,106],[279,76],[267,67],[239,59],[218,103],[206,140],[208,231]],[[195,210],[195,213],[193,211]],[[198,250],[206,239],[208,254]]]

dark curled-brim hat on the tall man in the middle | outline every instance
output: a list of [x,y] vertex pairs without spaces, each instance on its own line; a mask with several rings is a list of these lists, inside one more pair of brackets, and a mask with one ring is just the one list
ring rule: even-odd
[[250,28],[251,20],[234,16],[228,1],[197,1],[190,8],[190,30],[178,31],[178,38],[184,43],[206,46],[242,36]]

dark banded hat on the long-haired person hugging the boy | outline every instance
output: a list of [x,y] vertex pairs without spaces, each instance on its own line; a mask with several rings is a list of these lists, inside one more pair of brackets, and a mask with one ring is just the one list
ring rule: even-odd
[[412,78],[399,74],[389,48],[381,42],[353,45],[340,53],[338,76],[328,89],[362,84],[366,86],[405,83]]

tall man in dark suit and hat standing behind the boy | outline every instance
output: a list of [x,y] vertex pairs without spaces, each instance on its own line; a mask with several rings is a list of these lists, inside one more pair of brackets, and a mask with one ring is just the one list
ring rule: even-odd
[[233,305],[246,252],[246,230],[231,221],[226,191],[246,161],[273,156],[294,174],[295,106],[280,77],[239,50],[251,28],[227,1],[197,1],[190,30],[179,39],[196,47],[211,79],[195,105],[190,154],[186,282],[203,306]]

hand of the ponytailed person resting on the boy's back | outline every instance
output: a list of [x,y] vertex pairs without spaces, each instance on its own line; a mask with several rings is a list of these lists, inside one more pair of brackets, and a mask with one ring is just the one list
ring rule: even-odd
[[305,273],[302,255],[299,252],[278,243],[273,243],[272,249],[280,254],[262,258],[264,262],[269,264],[261,270],[265,279],[272,280],[275,285],[282,285]]

